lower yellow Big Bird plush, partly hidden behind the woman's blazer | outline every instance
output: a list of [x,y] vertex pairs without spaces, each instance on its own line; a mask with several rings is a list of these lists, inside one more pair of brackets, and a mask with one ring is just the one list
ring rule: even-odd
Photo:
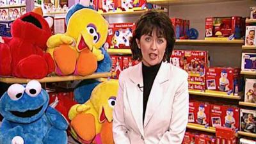
[[81,143],[113,143],[112,120],[118,92],[117,81],[97,85],[90,99],[72,106],[68,113],[72,136]]

